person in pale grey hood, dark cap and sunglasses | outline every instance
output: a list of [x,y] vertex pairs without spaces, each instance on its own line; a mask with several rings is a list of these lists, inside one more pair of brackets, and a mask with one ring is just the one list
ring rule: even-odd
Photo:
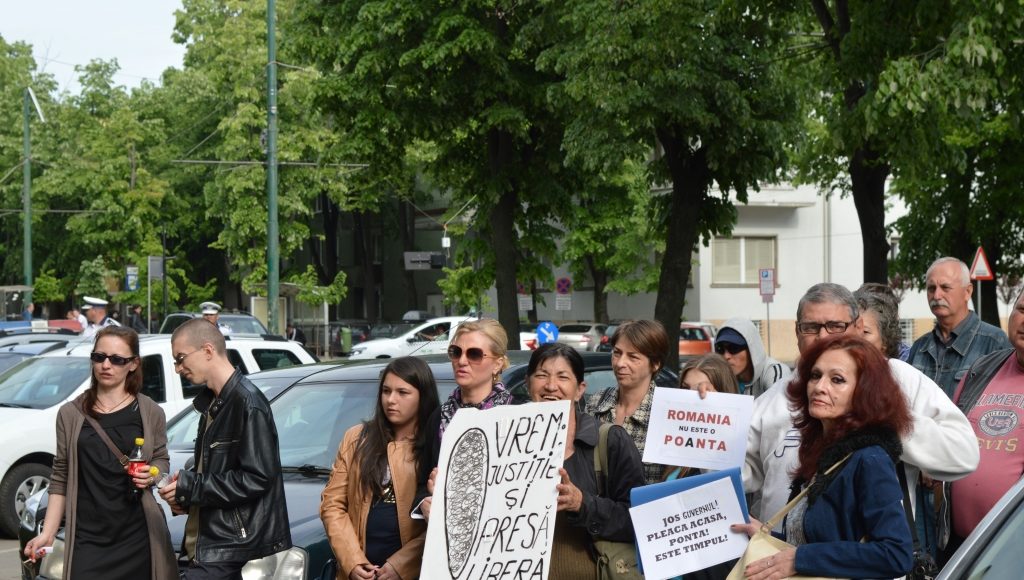
[[776,382],[788,382],[793,374],[790,367],[765,353],[761,332],[750,319],[725,321],[715,337],[715,351],[729,363],[742,393],[760,397]]

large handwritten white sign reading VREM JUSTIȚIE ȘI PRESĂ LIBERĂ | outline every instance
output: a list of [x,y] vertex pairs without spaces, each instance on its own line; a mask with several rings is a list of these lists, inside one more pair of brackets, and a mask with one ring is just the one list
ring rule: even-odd
[[569,402],[460,409],[444,429],[423,580],[545,580]]

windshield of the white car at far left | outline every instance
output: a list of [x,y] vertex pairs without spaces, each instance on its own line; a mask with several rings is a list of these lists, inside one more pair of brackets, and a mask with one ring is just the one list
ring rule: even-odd
[[85,357],[41,357],[22,361],[0,375],[0,407],[47,409],[89,378]]

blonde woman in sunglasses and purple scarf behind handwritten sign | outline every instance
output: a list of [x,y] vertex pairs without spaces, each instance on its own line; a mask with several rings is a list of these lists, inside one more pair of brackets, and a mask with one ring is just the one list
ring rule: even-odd
[[512,403],[512,395],[502,384],[502,371],[509,368],[508,344],[505,327],[494,319],[463,323],[452,336],[447,356],[458,388],[427,421],[427,432],[437,434],[427,440],[430,461],[420,468],[417,498],[423,501],[414,509],[416,516],[430,515],[429,495],[433,493],[440,441],[459,409],[490,409]]

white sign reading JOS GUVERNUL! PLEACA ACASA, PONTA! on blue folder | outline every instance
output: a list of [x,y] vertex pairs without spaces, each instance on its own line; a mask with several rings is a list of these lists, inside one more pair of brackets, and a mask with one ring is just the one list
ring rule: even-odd
[[746,534],[736,488],[726,478],[630,508],[643,574],[664,580],[739,557]]

